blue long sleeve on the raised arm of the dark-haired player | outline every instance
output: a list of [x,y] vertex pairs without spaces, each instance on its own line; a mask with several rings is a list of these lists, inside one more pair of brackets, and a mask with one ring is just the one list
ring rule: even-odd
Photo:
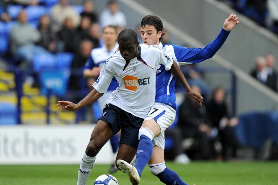
[[212,58],[213,55],[222,47],[230,32],[222,28],[217,37],[204,48],[186,48],[173,45],[175,56],[178,62],[198,63]]

